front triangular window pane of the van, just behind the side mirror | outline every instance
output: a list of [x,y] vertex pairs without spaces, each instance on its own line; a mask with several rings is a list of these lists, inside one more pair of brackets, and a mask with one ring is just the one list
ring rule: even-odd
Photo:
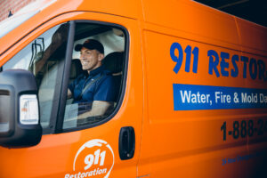
[[68,23],[49,29],[3,66],[3,70],[26,69],[35,75],[43,128],[50,125],[53,104],[59,100],[68,32]]

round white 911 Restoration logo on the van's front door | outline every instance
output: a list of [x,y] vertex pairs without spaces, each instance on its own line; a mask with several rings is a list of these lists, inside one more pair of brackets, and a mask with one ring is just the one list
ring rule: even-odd
[[65,178],[108,178],[113,166],[114,153],[108,142],[94,139],[77,150],[73,162],[74,174],[65,174]]

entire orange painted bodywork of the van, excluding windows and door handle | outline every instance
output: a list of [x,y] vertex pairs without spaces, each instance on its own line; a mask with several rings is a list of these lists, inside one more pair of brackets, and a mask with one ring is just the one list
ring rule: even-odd
[[[255,128],[261,129],[259,120],[267,122],[266,108],[174,109],[176,84],[266,91],[266,80],[260,78],[259,71],[256,78],[252,78],[255,70],[249,70],[251,59],[255,59],[256,63],[263,61],[267,69],[266,28],[187,0],[62,0],[0,39],[0,65],[36,36],[69,20],[106,21],[128,30],[129,64],[123,104],[117,115],[103,125],[68,134],[44,135],[36,147],[28,149],[8,150],[1,147],[1,178],[77,174],[73,172],[77,150],[92,139],[104,140],[113,149],[114,158],[107,158],[109,167],[115,160],[109,177],[266,175],[267,133],[258,134],[259,131],[255,131]],[[170,54],[174,43],[181,45],[184,55],[177,73],[174,72],[177,61]],[[189,71],[185,71],[188,53],[184,50],[188,46],[191,50],[198,48],[197,72],[193,72],[193,61]],[[214,55],[209,55],[211,51],[219,56],[216,68],[210,64],[212,57],[214,60]],[[193,59],[196,53],[190,52]],[[227,67],[223,67],[225,62],[220,63],[222,53],[229,55],[225,60],[229,65],[226,64]],[[178,58],[179,55],[181,53],[175,49],[174,56]],[[232,62],[233,56],[238,56],[239,61]],[[245,62],[241,61],[241,56],[248,59],[246,78]],[[218,69],[219,76],[215,69]],[[235,69],[239,69],[239,74],[233,77]],[[223,76],[225,72],[228,77]],[[263,77],[265,75],[267,77],[266,70]],[[203,103],[211,101],[206,96],[203,100],[201,97],[197,100]],[[227,103],[227,98],[225,100],[219,102],[223,106],[231,104]],[[254,135],[251,136],[248,135],[251,132],[248,126],[246,135],[241,129],[242,123],[249,125],[250,120],[257,125],[253,127]],[[235,122],[239,123],[240,128],[238,138]],[[122,161],[118,156],[118,134],[119,129],[127,125],[134,125],[136,150],[133,159]]]

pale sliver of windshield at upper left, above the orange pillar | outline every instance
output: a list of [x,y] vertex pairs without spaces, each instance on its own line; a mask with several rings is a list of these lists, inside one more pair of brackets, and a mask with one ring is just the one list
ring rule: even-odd
[[34,16],[37,12],[40,11],[32,11],[20,15],[14,15],[2,21],[0,23],[0,38],[8,34],[10,31],[12,31],[12,29],[19,27],[20,24]]

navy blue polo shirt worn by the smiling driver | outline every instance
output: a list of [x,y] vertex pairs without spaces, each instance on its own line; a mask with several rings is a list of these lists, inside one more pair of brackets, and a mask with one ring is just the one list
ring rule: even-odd
[[78,76],[69,85],[69,90],[74,98],[73,103],[115,101],[116,97],[114,78],[111,72],[102,66],[90,71],[89,75]]

